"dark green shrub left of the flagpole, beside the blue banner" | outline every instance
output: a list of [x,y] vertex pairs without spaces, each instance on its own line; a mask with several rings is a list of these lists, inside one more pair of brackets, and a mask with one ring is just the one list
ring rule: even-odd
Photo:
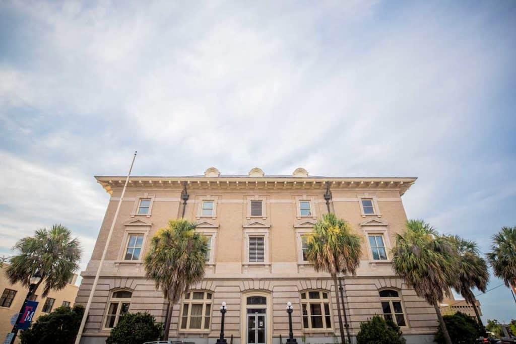
[[40,316],[28,330],[20,333],[22,344],[69,344],[75,341],[83,318],[84,307],[57,307]]

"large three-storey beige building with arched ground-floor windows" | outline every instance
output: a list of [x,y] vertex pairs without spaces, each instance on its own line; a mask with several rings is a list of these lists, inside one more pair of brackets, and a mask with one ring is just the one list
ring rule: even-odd
[[[111,195],[104,222],[76,302],[86,304],[109,228],[125,182],[123,176],[97,176]],[[225,336],[234,344],[278,344],[288,336],[286,303],[294,306],[298,342],[340,341],[335,286],[329,274],[315,272],[304,258],[304,236],[323,214],[347,220],[363,237],[357,276],[343,280],[352,335],[375,314],[396,321],[409,343],[433,342],[435,310],[397,278],[390,249],[407,220],[401,195],[416,178],[344,178],[220,175],[130,178],[101,269],[83,343],[103,343],[127,312],[147,311],[164,321],[162,292],[144,276],[143,256],[150,238],[169,219],[198,223],[209,238],[206,274],[174,305],[170,338],[214,343],[219,337],[221,302],[228,305]],[[329,187],[329,190],[327,188]],[[186,208],[182,200],[188,195]]]

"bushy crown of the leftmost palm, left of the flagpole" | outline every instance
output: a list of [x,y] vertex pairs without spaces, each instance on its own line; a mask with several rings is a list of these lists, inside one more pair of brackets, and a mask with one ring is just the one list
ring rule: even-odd
[[43,297],[50,290],[65,288],[74,272],[79,269],[83,250],[77,238],[67,227],[54,224],[50,230],[41,228],[34,236],[20,239],[13,247],[20,254],[10,257],[5,275],[10,283],[20,282],[30,286],[30,277],[39,270],[41,281],[33,289],[32,296],[45,282]]

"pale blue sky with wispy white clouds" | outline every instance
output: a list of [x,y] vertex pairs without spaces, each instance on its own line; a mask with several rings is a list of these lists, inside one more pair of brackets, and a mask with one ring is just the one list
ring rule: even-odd
[[[416,176],[409,218],[516,225],[516,2],[0,2],[0,255],[62,223],[90,258],[93,175]],[[489,288],[502,282],[491,277]],[[483,319],[516,318],[505,286]]]

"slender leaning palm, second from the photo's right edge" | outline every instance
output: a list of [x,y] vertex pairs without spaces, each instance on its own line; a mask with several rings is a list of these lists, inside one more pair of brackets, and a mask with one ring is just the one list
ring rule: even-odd
[[458,235],[449,236],[448,240],[454,245],[457,253],[457,271],[454,276],[454,279],[458,280],[459,283],[457,291],[466,302],[473,306],[482,334],[485,334],[486,329],[482,319],[480,319],[475,294],[471,289],[475,287],[481,292],[486,292],[489,281],[486,260],[480,256],[480,251],[474,241],[464,240]]

